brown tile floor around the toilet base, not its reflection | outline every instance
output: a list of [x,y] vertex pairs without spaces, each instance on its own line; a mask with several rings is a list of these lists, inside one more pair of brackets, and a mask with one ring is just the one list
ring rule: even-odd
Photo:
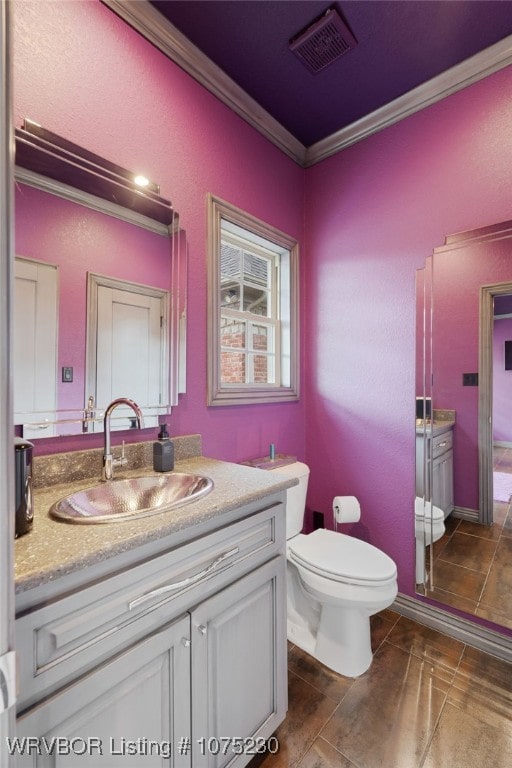
[[356,679],[289,646],[280,749],[250,768],[510,768],[512,664],[391,610],[372,645]]

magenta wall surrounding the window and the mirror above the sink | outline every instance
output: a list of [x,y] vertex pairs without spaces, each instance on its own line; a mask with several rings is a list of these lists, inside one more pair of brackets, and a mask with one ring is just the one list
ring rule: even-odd
[[[205,454],[220,459],[262,455],[271,442],[303,457],[304,400],[206,407],[206,195],[302,246],[304,171],[100,2],[23,0],[13,4],[13,23],[16,126],[30,117],[145,173],[187,231],[188,391],[173,411],[171,433],[201,433]],[[37,451],[97,442],[40,441]]]

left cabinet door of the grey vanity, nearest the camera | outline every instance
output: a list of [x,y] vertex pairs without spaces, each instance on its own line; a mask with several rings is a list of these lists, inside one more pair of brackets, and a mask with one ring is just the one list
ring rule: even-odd
[[20,767],[190,768],[189,616],[28,710],[17,738]]

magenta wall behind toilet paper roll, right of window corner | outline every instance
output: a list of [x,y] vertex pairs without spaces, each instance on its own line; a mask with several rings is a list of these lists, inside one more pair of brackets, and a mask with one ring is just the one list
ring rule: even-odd
[[397,561],[406,594],[415,271],[447,234],[511,218],[511,89],[508,68],[307,172],[309,502],[330,515],[334,493],[358,495],[353,531]]

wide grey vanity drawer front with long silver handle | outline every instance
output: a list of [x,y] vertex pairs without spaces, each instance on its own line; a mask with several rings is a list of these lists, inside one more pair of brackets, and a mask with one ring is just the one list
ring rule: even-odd
[[278,554],[282,504],[16,619],[20,705],[32,703]]

